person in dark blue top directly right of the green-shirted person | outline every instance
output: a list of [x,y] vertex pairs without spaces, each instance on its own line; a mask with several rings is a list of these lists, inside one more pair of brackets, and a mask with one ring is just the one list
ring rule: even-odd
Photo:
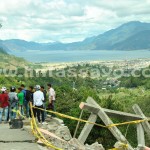
[[24,100],[23,100],[23,105],[24,105],[24,109],[25,109],[25,116],[27,118],[29,118],[29,91],[25,89],[25,85],[24,84],[21,84],[21,89],[22,89],[22,92],[24,94]]

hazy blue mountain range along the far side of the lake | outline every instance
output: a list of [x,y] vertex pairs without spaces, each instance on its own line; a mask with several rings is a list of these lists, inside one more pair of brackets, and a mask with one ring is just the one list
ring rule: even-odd
[[115,29],[73,43],[37,43],[20,39],[0,40],[7,52],[27,50],[150,50],[150,23],[132,21]]

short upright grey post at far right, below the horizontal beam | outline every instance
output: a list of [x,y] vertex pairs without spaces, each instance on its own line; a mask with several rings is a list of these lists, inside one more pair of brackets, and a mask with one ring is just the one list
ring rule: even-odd
[[143,148],[145,146],[145,136],[143,126],[141,123],[137,124],[137,139],[138,139],[138,147]]

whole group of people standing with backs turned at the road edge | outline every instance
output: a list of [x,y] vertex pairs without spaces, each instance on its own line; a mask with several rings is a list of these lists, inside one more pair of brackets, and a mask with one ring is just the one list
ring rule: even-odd
[[[16,119],[17,111],[20,112],[20,117],[32,118],[30,102],[33,106],[34,117],[37,118],[39,124],[46,124],[45,119],[47,116],[47,106],[55,111],[55,90],[51,84],[47,84],[48,90],[45,90],[44,86],[36,85],[35,87],[29,86],[25,88],[24,84],[21,84],[16,89],[15,86],[10,87],[10,91],[6,87],[1,88],[0,93],[0,123],[4,120],[4,123],[12,119]],[[47,98],[48,95],[48,98]],[[48,100],[47,100],[48,99]],[[52,117],[54,115],[52,114]],[[4,118],[4,119],[3,119]]]

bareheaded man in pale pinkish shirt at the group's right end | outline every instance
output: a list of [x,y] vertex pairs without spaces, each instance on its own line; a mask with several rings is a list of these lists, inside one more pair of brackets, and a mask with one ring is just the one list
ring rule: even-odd
[[[49,93],[49,105],[51,105],[52,110],[55,111],[56,93],[55,90],[52,88],[51,84],[47,84],[47,86],[48,86],[48,93]],[[55,117],[55,114],[52,114],[52,117]]]

